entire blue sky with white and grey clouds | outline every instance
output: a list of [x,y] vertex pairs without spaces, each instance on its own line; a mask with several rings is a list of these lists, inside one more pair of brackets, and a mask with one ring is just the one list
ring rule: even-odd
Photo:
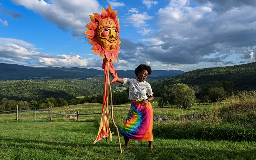
[[190,71],[256,61],[255,0],[4,0],[0,63],[101,69],[85,26],[111,5],[121,26],[116,70]]

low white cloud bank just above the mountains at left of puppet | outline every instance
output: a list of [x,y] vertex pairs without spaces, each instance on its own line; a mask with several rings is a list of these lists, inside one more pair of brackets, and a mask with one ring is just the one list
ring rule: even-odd
[[35,51],[37,49],[33,44],[22,40],[0,38],[0,63],[65,67],[100,67],[102,63],[100,59],[84,59],[75,53],[52,56]]

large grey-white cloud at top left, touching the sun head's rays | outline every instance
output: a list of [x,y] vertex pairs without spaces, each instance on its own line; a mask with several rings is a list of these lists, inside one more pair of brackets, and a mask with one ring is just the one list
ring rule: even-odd
[[73,36],[83,36],[85,26],[91,21],[89,15],[101,13],[101,6],[96,0],[11,0],[29,10],[39,13],[46,20],[57,25],[63,32],[72,32]]

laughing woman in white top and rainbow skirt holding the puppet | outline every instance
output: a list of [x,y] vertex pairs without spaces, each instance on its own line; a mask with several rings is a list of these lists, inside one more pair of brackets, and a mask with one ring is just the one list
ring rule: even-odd
[[[127,148],[130,146],[129,140],[132,139],[148,141],[149,148],[153,149],[153,109],[150,101],[154,100],[154,96],[150,84],[145,81],[152,70],[150,66],[140,64],[134,72],[136,79],[117,79],[117,82],[129,85],[129,99],[132,100],[121,133]],[[111,73],[111,76],[116,77],[115,73]]]

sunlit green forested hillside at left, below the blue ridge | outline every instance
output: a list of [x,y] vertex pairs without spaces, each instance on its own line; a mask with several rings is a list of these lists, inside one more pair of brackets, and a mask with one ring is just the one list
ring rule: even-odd
[[[115,90],[120,84],[112,83]],[[0,81],[0,99],[42,100],[48,97],[70,100],[103,93],[104,78]]]

